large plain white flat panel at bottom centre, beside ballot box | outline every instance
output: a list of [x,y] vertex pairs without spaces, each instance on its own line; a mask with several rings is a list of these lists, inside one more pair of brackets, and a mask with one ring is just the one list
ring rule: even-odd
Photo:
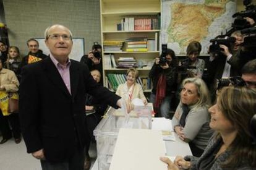
[[164,142],[160,130],[120,129],[110,170],[166,170],[160,161]]

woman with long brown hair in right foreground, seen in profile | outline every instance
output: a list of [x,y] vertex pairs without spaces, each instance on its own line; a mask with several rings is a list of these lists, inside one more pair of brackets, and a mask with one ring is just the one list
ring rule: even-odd
[[[171,169],[256,169],[256,145],[249,122],[256,111],[256,90],[224,87],[209,109],[210,127],[216,133],[200,158],[177,156],[174,163],[160,158]],[[186,160],[185,160],[186,159]],[[179,167],[179,168],[178,168]]]

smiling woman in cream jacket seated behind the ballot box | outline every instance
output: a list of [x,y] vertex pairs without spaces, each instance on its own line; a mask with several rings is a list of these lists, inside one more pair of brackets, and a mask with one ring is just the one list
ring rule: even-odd
[[136,83],[136,79],[139,77],[138,70],[130,68],[126,73],[126,83],[123,83],[117,87],[116,95],[121,96],[124,100],[132,101],[134,98],[140,98],[146,105],[147,99],[144,96],[142,86]]

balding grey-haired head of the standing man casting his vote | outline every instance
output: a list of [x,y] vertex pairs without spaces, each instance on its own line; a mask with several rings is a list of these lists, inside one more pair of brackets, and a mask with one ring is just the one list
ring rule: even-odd
[[64,59],[69,56],[73,41],[70,39],[70,33],[66,27],[56,25],[49,29],[45,44],[56,59]]

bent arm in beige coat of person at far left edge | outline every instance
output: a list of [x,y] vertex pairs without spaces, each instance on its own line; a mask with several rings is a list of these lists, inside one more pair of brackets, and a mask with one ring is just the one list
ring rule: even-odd
[[7,72],[7,79],[9,79],[9,83],[4,83],[0,86],[1,90],[5,90],[6,92],[16,92],[19,90],[19,80],[13,71]]

